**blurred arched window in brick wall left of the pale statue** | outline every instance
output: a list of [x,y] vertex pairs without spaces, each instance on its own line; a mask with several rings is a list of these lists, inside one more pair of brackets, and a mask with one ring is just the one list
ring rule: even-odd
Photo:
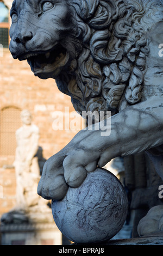
[[0,112],[0,156],[14,156],[16,150],[15,132],[21,127],[21,109],[3,108]]

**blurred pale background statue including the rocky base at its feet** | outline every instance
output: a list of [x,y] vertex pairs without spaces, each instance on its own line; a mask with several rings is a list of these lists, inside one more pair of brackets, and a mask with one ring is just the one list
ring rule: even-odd
[[[51,209],[47,206],[48,201],[36,193],[40,180],[37,157],[39,127],[33,124],[32,114],[27,109],[21,112],[21,120],[22,126],[16,131],[17,147],[13,163],[16,174],[16,205],[14,209],[2,216],[1,221],[12,223],[19,219],[20,222],[44,222],[50,219]],[[45,216],[40,217],[39,208]]]

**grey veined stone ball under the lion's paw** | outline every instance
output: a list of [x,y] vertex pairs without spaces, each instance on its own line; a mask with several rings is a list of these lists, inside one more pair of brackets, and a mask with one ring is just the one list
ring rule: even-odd
[[52,201],[59,230],[69,240],[95,243],[111,239],[127,217],[128,199],[121,182],[108,170],[88,173],[78,188],[68,188],[62,200]]

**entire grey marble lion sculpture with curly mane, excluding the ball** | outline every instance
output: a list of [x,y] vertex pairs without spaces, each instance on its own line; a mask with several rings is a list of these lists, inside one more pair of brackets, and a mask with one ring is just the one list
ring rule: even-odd
[[163,179],[162,10],[162,0],[13,2],[13,58],[54,78],[80,114],[104,112],[103,126],[111,119],[109,136],[87,127],[47,160],[43,198],[62,200],[97,167],[143,151]]

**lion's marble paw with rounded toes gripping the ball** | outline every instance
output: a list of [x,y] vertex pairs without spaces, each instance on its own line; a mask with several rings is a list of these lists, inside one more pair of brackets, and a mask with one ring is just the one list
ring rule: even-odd
[[[79,187],[87,176],[87,172],[96,169],[96,161],[89,164],[80,162],[79,154],[61,152],[48,159],[43,167],[37,193],[45,199],[61,200],[68,187]],[[83,161],[83,160],[81,160]]]

